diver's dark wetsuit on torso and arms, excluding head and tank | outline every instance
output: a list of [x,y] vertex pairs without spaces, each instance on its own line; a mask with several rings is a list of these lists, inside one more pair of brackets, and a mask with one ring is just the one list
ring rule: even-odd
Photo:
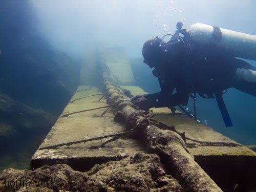
[[188,50],[178,41],[164,51],[167,58],[154,65],[153,71],[161,92],[145,95],[149,108],[186,105],[190,93],[215,98],[213,94],[221,95],[232,87],[256,96],[256,82],[247,82],[236,75],[237,69],[256,71],[256,68],[214,45]]

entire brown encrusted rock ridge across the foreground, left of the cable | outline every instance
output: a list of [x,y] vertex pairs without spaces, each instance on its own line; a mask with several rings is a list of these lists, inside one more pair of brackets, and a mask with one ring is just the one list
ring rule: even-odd
[[66,164],[35,170],[9,168],[0,175],[0,191],[184,191],[165,173],[156,154],[136,154],[78,172]]

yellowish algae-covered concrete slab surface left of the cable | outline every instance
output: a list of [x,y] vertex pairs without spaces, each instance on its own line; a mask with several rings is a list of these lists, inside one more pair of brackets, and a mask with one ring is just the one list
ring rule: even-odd
[[[105,98],[98,101],[102,96],[103,93],[98,91],[96,87],[79,86],[61,116],[107,106]],[[81,142],[69,146],[53,146],[123,132],[123,125],[114,121],[111,109],[101,116],[105,110],[106,108],[103,108],[72,114],[68,117],[60,116],[32,157],[31,168],[66,163],[76,170],[89,170],[96,163],[120,160],[129,155],[143,152],[141,146],[135,140],[128,138],[120,138],[107,143],[102,148],[98,147],[110,138]]]

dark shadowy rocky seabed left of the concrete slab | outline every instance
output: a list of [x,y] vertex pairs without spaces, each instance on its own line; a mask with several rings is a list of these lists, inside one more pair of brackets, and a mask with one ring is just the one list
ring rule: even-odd
[[42,109],[0,94],[0,172],[7,167],[28,168],[54,118]]

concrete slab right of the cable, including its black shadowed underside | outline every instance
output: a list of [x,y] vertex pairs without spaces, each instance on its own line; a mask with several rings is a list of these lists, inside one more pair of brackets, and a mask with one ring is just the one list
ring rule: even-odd
[[[127,87],[132,94],[145,94],[138,87]],[[207,142],[220,142],[220,145],[205,146],[194,141],[187,140],[191,145],[187,147],[195,161],[224,191],[239,184],[240,186],[253,186],[256,181],[256,153],[246,146],[212,130],[205,124],[199,123],[187,115],[177,112],[171,115],[168,108],[152,108],[158,121],[166,125],[175,125],[179,132],[185,132],[186,137]],[[234,146],[225,146],[225,145]]]

